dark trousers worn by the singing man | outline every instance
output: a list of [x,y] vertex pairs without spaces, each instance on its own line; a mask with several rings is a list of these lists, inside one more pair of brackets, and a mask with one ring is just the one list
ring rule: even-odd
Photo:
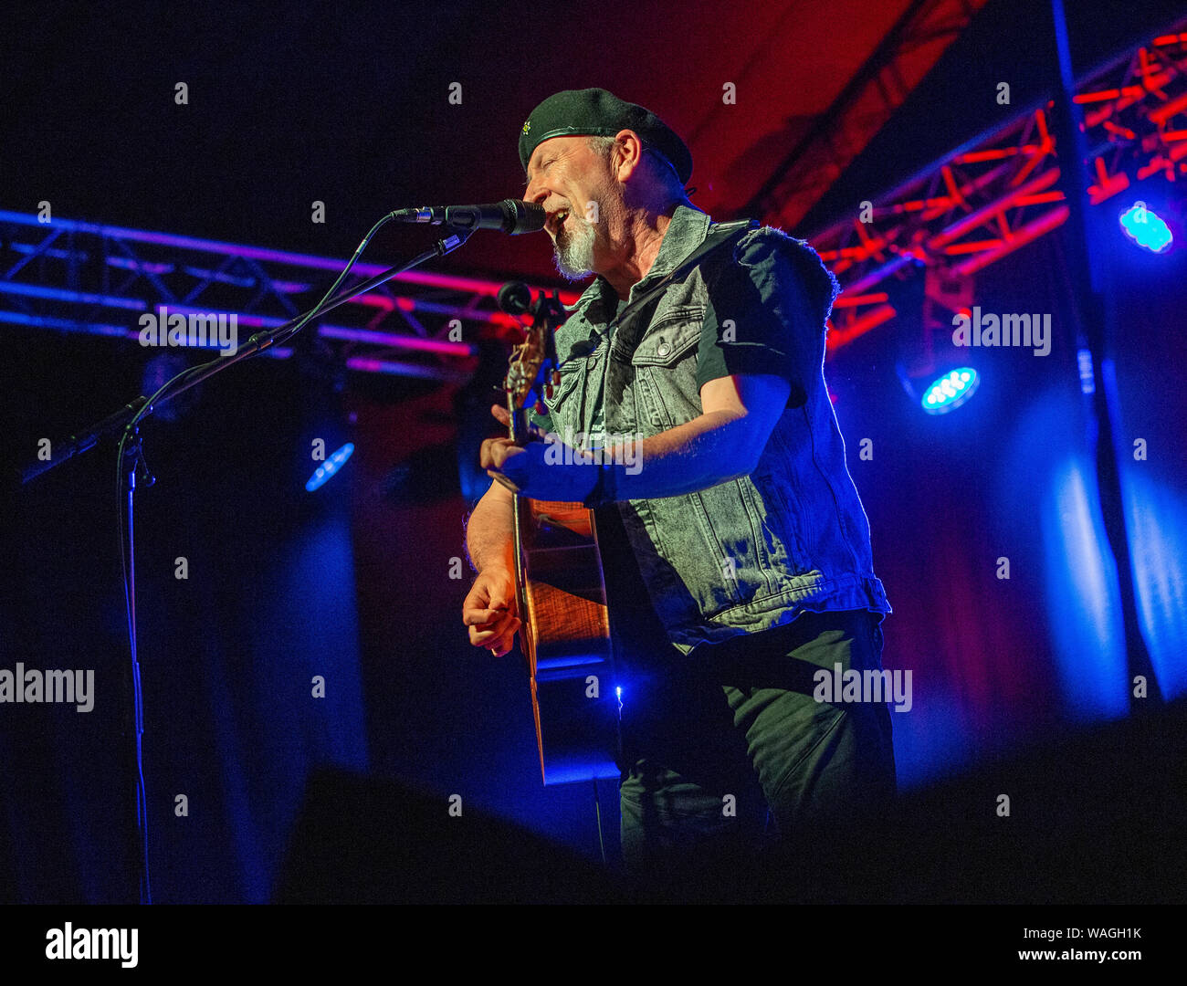
[[626,659],[628,872],[672,882],[770,844],[802,857],[842,832],[875,835],[895,794],[887,704],[818,701],[813,692],[820,669],[881,669],[880,617],[804,613],[700,650]]

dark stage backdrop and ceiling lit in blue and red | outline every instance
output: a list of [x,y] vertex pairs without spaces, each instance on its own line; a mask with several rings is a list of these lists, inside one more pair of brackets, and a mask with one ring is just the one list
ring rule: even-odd
[[[0,208],[344,257],[381,212],[485,202],[522,187],[522,119],[563,88],[605,85],[655,109],[696,158],[693,198],[747,205],[779,150],[823,110],[903,5],[30,5],[0,50]],[[1172,4],[1073,4],[1080,68],[1148,37]],[[806,235],[995,126],[991,100],[1049,84],[1042,4],[991,2],[893,126],[795,231]],[[740,82],[723,120],[721,83]],[[190,103],[173,103],[185,81]],[[464,87],[459,107],[450,82]],[[745,84],[743,84],[745,83]],[[749,88],[747,88],[749,87]],[[1181,187],[1150,182],[1151,203]],[[328,222],[310,222],[310,203]],[[1104,211],[1104,210],[1100,210]],[[1045,311],[1047,357],[969,355],[983,374],[959,413],[927,418],[894,371],[920,345],[902,317],[827,368],[850,471],[895,613],[884,662],[910,668],[895,715],[908,789],[1128,713],[1115,574],[1099,521],[1069,330],[1066,228],[977,278],[985,311]],[[1178,230],[1176,230],[1178,235]],[[1185,231],[1187,235],[1187,231]],[[1187,687],[1182,317],[1187,256],[1132,252],[1112,215],[1092,230],[1123,313],[1116,373],[1143,631],[1162,689]],[[406,230],[373,260],[423,246]],[[539,237],[475,237],[443,269],[551,276]],[[326,282],[328,284],[328,282]],[[0,329],[5,462],[142,389],[140,348]],[[318,496],[310,434],[357,452]],[[155,486],[138,497],[139,622],[153,883],[163,902],[265,901],[312,766],[411,782],[597,852],[585,788],[542,789],[518,655],[465,641],[469,504],[458,485],[457,388],[351,376],[315,360],[256,361],[203,388],[184,420],[145,430]],[[872,440],[872,460],[856,454]],[[5,495],[0,666],[94,668],[95,711],[0,707],[0,891],[119,901],[128,884],[122,593],[110,450]],[[173,578],[189,560],[188,580]],[[1011,579],[996,578],[1007,556]],[[462,564],[464,573],[468,568]],[[310,696],[313,675],[326,698]],[[1155,770],[1135,765],[1135,771]],[[612,785],[607,785],[612,788]],[[173,800],[189,797],[177,818]],[[1122,803],[1126,793],[1113,795]],[[603,791],[608,850],[612,789]],[[444,822],[443,822],[444,823]],[[392,819],[393,828],[399,819]]]

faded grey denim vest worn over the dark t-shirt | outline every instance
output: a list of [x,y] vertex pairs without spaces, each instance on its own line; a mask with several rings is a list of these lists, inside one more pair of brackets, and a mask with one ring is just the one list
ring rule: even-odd
[[[678,205],[655,262],[626,304],[678,268],[710,228],[706,214]],[[754,237],[810,249],[770,227],[744,233],[732,256],[723,246],[674,278],[639,324],[610,325],[617,295],[597,278],[556,332],[560,380],[546,402],[548,418],[539,424],[592,449],[603,444],[602,432],[646,438],[700,415],[703,275],[709,265],[736,262]],[[697,492],[615,504],[654,612],[684,654],[781,626],[806,611],[891,612],[874,574],[869,521],[824,382],[823,320],[813,335],[805,341],[817,368],[806,381],[806,399],[785,408],[750,475]]]

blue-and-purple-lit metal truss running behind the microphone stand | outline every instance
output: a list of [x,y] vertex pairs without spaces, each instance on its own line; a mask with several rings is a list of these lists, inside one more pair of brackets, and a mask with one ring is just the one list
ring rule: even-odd
[[[234,314],[250,335],[311,307],[345,261],[72,220],[0,211],[0,323],[139,341],[139,317]],[[360,280],[385,271],[355,265]],[[502,281],[411,271],[317,322],[358,373],[450,382],[472,375],[477,342],[520,342],[496,305]],[[539,291],[539,288],[533,288]],[[571,304],[572,292],[561,292]],[[312,330],[312,326],[310,327]],[[285,358],[292,349],[268,350]]]

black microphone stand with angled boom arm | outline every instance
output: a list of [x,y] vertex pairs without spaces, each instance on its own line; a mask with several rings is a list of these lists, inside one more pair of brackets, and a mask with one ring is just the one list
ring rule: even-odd
[[[392,218],[392,215],[385,217],[385,221],[387,218]],[[358,250],[355,253],[355,260],[357,260],[358,255],[362,253],[363,248],[370,241],[370,237],[375,234],[382,222],[383,221],[376,224],[368,234],[367,238],[363,240]],[[140,441],[140,422],[152,414],[158,407],[173,400],[178,396],[178,394],[182,394],[191,387],[209,380],[215,374],[226,370],[235,363],[271,349],[278,342],[286,341],[288,336],[297,335],[297,332],[300,331],[305,324],[311,322],[317,316],[331,311],[332,308],[345,304],[351,298],[363,294],[374,287],[379,287],[381,284],[392,280],[392,278],[398,274],[411,271],[413,267],[418,267],[434,256],[445,256],[445,254],[452,253],[470,238],[475,229],[474,227],[449,228],[449,236],[443,236],[430,249],[418,254],[407,263],[391,267],[382,274],[376,274],[370,280],[362,281],[354,287],[335,294],[332,298],[323,300],[307,313],[290,319],[284,323],[284,325],[278,325],[274,329],[256,332],[242,346],[240,346],[233,356],[220,356],[208,363],[185,370],[160,388],[160,390],[158,390],[152,397],[141,395],[123,405],[123,407],[119,411],[109,414],[107,418],[91,427],[80,432],[77,435],[70,435],[70,438],[65,441],[52,445],[51,447],[55,450],[55,453],[51,459],[46,462],[38,460],[26,463],[25,465],[15,469],[17,485],[25,485],[55,466],[62,465],[64,462],[72,459],[75,456],[93,449],[101,440],[113,438],[116,434],[120,435],[118,467],[120,476],[121,502],[118,521],[120,528],[120,561],[123,567],[123,590],[128,615],[128,651],[131,657],[131,662],[128,664],[131,678],[125,675],[125,687],[131,695],[129,718],[132,726],[132,753],[133,763],[137,769],[137,820],[135,832],[133,833],[134,841],[132,842],[133,850],[131,854],[133,859],[137,860],[137,883],[139,885],[139,899],[141,904],[152,903],[152,889],[148,882],[148,804],[145,794],[141,745],[141,737],[144,734],[144,701],[140,691],[140,663],[137,649],[135,539],[133,534],[133,523],[135,516],[134,498],[138,478],[145,486],[151,486],[155,479],[148,471],[147,463],[144,458],[144,450]],[[354,260],[351,260],[350,266],[354,266]],[[350,266],[348,266],[347,271],[350,269]],[[125,739],[127,739],[126,734]]]

